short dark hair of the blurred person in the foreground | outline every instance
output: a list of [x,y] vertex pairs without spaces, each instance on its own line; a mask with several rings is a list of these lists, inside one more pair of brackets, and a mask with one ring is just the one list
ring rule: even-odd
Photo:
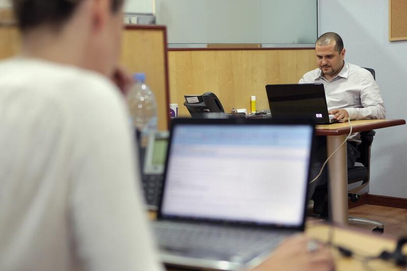
[[[14,14],[22,32],[41,25],[62,26],[85,0],[12,0]],[[117,12],[124,0],[111,0]]]

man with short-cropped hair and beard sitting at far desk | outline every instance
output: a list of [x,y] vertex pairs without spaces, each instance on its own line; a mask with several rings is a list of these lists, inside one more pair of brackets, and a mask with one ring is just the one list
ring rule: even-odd
[[[359,66],[344,61],[345,48],[341,37],[333,32],[323,34],[315,43],[318,68],[307,72],[299,83],[323,83],[329,114],[344,122],[352,119],[380,119],[386,117],[386,109],[380,94],[380,88],[372,74]],[[317,162],[314,163],[317,174],[326,159],[326,137],[318,137]],[[360,135],[355,133],[347,141],[347,167],[353,167],[357,158],[357,145]],[[319,169],[318,169],[319,168]],[[327,181],[326,171],[309,190],[312,195],[316,185]],[[317,197],[317,196],[316,196]],[[321,199],[317,199],[318,203]],[[321,212],[321,204],[315,204],[314,210]]]

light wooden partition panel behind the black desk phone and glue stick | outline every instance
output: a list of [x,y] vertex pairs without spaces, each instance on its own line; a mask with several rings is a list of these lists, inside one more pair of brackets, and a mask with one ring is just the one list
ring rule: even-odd
[[170,103],[189,116],[184,95],[215,93],[225,112],[232,107],[269,109],[266,84],[297,83],[316,68],[314,49],[169,51]]

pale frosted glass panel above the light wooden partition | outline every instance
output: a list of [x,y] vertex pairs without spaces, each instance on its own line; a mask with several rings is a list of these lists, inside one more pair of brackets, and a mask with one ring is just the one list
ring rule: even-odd
[[316,0],[156,0],[170,44],[314,44]]

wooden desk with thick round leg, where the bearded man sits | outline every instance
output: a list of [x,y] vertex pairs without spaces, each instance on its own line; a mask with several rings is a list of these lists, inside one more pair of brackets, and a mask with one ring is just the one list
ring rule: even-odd
[[[404,119],[364,119],[361,121],[351,121],[353,133],[375,130],[380,128],[404,125]],[[351,128],[348,122],[330,125],[317,125],[316,135],[327,136],[328,157],[345,140]],[[347,214],[347,162],[346,144],[343,144],[334,156],[328,161],[329,165],[329,186],[330,198],[332,202],[332,218],[338,225],[346,225]]]

